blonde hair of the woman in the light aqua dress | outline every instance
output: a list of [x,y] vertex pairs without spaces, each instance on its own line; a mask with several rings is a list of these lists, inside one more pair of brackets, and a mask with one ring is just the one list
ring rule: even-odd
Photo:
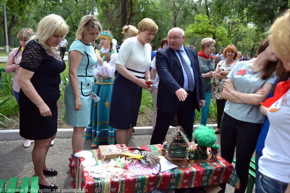
[[[95,27],[97,33],[102,32],[102,25],[100,21],[93,15],[85,15],[81,18],[79,22],[79,28],[77,29],[77,33],[75,34],[76,39],[81,39],[84,33],[90,33],[92,28]],[[97,37],[98,38],[98,37]]]

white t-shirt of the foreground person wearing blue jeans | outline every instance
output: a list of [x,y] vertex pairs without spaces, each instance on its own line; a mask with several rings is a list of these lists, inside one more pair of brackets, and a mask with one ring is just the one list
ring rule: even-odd
[[268,111],[269,131],[259,171],[265,176],[290,183],[290,89]]

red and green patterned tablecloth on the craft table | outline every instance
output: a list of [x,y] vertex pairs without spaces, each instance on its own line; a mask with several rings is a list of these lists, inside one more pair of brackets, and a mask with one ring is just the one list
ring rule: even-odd
[[[156,152],[160,150],[162,145],[138,146],[137,148],[151,150]],[[96,160],[99,159],[98,150],[90,150],[93,152]],[[162,172],[155,175],[143,175],[126,178],[122,180],[120,192],[131,193],[139,192],[146,193],[155,189],[177,189],[177,188],[192,188],[198,186],[213,185],[218,183],[228,183],[236,189],[240,188],[240,180],[233,166],[225,159],[219,156],[220,159],[210,162],[195,163],[189,168],[175,168],[170,172]],[[77,160],[74,158],[69,166],[71,172],[71,185],[76,187],[77,183],[77,168],[78,161],[84,161],[83,158]],[[82,171],[81,189],[83,192],[95,193],[100,192],[99,179],[90,178],[88,172]],[[110,192],[118,192],[119,182],[111,180]]]

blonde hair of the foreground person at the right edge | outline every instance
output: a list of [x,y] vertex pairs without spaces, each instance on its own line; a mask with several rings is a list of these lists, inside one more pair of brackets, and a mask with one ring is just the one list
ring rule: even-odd
[[290,9],[278,17],[271,26],[269,33],[270,46],[273,52],[283,58],[290,58]]

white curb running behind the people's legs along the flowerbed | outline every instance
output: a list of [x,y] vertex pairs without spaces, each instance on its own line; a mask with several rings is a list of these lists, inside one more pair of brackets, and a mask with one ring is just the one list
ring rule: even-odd
[[[198,128],[200,125],[194,125],[193,130]],[[217,128],[217,124],[208,124],[206,126],[212,126],[213,129]],[[171,133],[175,127],[169,127],[168,133]],[[135,127],[135,133],[133,135],[152,135],[151,127]],[[84,132],[85,133],[85,132]],[[57,129],[57,138],[70,138],[73,136],[73,129]],[[0,140],[17,140],[24,139],[19,135],[19,129],[14,130],[0,130]]]

